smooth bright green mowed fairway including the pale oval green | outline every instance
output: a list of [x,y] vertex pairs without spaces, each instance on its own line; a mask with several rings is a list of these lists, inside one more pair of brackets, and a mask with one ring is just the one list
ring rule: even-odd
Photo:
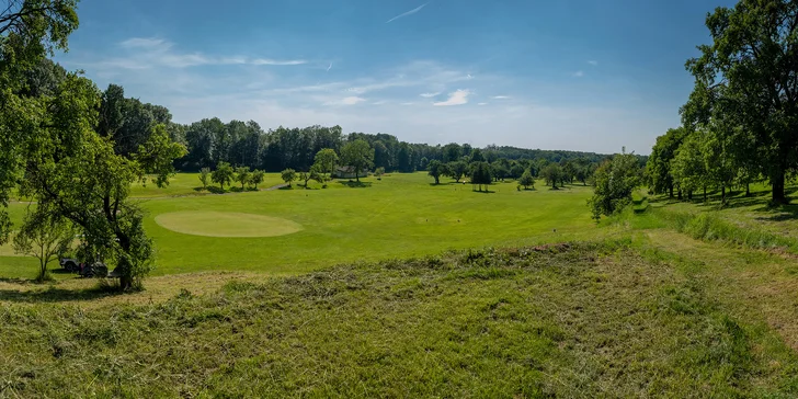
[[[198,182],[196,174],[180,179]],[[363,181],[369,186],[333,181],[328,189],[295,183],[293,190],[142,198],[158,251],[152,274],[295,274],[447,249],[562,241],[596,228],[585,205],[591,187],[579,184],[554,191],[538,182],[535,191],[517,191],[508,182],[478,193],[448,179],[432,185],[425,173]],[[22,205],[15,207],[20,217]],[[0,276],[34,273],[27,259],[0,256]]]

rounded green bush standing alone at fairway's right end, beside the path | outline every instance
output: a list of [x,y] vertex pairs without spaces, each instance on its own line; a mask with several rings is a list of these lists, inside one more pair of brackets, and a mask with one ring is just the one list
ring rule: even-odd
[[588,201],[596,221],[602,215],[620,212],[631,203],[631,193],[640,184],[640,168],[631,153],[616,153],[595,171],[594,194]]

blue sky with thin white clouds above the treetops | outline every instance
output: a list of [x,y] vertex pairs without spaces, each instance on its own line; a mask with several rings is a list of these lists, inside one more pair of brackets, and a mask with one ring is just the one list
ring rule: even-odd
[[731,0],[82,0],[101,89],[264,128],[648,153],[677,126],[704,19]]

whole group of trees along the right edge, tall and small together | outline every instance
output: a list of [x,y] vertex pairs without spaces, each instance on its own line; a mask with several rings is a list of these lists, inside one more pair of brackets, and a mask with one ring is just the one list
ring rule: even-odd
[[798,2],[742,0],[709,13],[711,44],[687,70],[695,87],[680,113],[683,125],[657,139],[646,179],[654,193],[721,203],[733,189],[771,184],[786,202],[785,182],[798,171]]

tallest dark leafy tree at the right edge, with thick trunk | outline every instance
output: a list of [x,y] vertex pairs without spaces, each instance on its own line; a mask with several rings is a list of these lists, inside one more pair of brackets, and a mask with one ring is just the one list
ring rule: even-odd
[[773,201],[784,202],[785,176],[798,168],[798,2],[741,0],[716,9],[706,25],[713,43],[687,61],[695,89],[683,118],[738,126],[720,132],[742,147],[727,151],[732,163],[760,166]]

